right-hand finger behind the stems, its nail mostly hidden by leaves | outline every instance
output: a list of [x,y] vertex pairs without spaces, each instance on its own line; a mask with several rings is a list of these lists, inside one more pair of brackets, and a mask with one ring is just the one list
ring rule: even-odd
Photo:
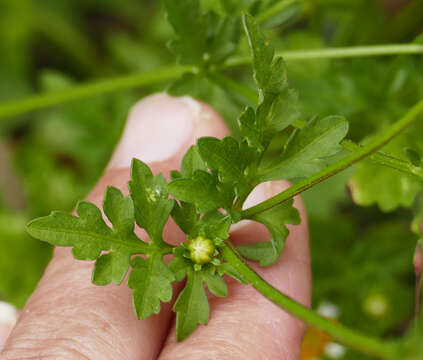
[[[280,181],[262,184],[252,194],[252,202],[261,202],[286,187],[287,183]],[[295,199],[295,206],[300,211],[302,223],[289,226],[291,233],[281,258],[268,268],[252,266],[284,294],[309,306],[311,273],[308,227],[300,198]],[[262,225],[247,222],[236,229],[231,238],[236,244],[248,244],[268,240],[269,235]],[[304,324],[251,286],[235,281],[228,283],[228,297],[210,298],[208,325],[199,326],[182,343],[175,342],[173,326],[159,359],[299,359]]]

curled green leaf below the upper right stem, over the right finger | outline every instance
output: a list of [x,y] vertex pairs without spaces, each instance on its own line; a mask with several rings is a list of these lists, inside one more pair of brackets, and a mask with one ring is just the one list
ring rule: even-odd
[[289,234],[285,224],[297,225],[300,223],[298,210],[293,207],[293,200],[290,200],[255,215],[253,220],[267,227],[270,241],[241,245],[237,249],[247,259],[260,262],[260,266],[272,265],[282,254],[285,240]]

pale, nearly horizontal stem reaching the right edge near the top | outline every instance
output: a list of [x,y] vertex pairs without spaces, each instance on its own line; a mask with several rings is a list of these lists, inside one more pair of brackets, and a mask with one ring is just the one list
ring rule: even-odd
[[[312,59],[339,59],[365,56],[389,56],[400,54],[422,54],[423,45],[419,44],[390,44],[372,46],[352,46],[326,48],[316,50],[292,50],[278,51],[276,56],[282,56],[285,60],[312,60]],[[228,59],[225,67],[242,66],[251,63],[248,56],[238,56]]]

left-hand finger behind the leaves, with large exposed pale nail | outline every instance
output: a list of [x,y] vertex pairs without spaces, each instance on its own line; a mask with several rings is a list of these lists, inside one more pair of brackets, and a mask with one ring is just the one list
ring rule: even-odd
[[[134,106],[107,170],[88,200],[100,205],[108,185],[127,192],[132,157],[155,172],[179,168],[196,137],[223,136],[227,129],[208,106],[191,98],[158,94]],[[172,225],[167,235],[178,241]],[[130,290],[94,286],[92,263],[76,261],[58,248],[6,344],[4,359],[153,359],[168,331],[170,306],[137,320]]]

